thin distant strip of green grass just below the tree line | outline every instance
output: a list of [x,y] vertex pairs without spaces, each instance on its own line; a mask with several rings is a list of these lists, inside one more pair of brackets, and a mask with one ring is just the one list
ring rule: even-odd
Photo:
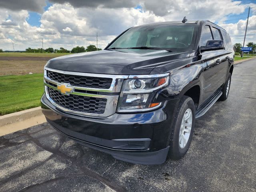
[[25,52],[4,52],[0,53],[0,57],[59,57],[63,55],[68,55],[71,53],[25,53]]

